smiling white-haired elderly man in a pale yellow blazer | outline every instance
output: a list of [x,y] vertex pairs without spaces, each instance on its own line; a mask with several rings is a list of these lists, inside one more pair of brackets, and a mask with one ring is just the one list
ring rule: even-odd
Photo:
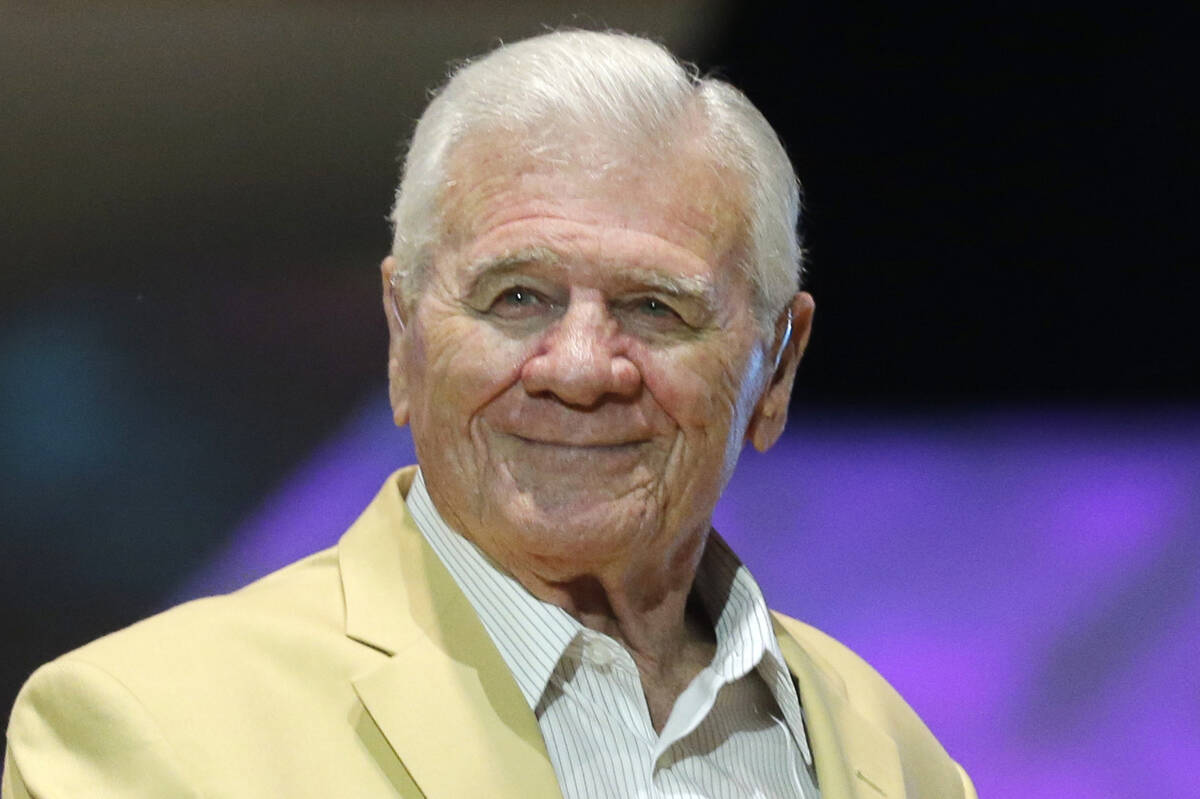
[[404,469],[338,545],[40,669],[4,797],[973,797],[710,528],[808,341],[757,110],[563,32],[461,68],[383,263]]

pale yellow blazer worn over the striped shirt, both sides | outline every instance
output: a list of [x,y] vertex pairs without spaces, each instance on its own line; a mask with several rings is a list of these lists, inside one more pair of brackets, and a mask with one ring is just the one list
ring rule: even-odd
[[[0,794],[558,797],[534,714],[392,475],[336,547],[43,666]],[[974,799],[866,663],[775,617],[824,799]]]

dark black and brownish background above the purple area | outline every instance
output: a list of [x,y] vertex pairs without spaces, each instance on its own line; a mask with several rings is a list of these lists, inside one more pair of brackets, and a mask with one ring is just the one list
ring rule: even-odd
[[1182,12],[588,7],[0,4],[0,704],[384,391],[401,143],[448,61],[540,23],[659,36],[776,126],[800,407],[1196,405]]

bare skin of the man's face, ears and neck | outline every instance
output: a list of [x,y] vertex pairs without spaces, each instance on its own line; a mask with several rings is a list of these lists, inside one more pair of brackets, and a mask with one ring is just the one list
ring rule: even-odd
[[384,260],[392,409],[443,517],[622,642],[661,731],[714,651],[688,602],[713,507],[782,432],[812,299],[763,340],[736,184],[686,143],[546,161],[458,145],[420,294]]

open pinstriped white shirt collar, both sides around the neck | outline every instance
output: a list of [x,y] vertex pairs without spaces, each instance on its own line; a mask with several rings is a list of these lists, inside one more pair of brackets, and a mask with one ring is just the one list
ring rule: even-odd
[[[430,498],[420,469],[406,503],[416,527],[475,608],[529,708],[536,710],[558,662],[571,642],[583,635],[583,625],[557,605],[535,597],[446,524]],[[762,590],[715,533],[704,547],[695,591],[714,620],[716,654],[710,668],[724,683],[757,668],[800,753],[811,765],[796,686],[775,639]]]

